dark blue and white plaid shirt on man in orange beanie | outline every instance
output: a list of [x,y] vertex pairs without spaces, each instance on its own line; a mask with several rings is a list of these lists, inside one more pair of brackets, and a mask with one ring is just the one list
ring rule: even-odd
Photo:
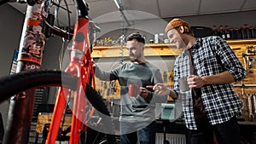
[[[241,81],[247,75],[247,71],[233,50],[220,37],[197,38],[195,45],[190,49],[195,71],[200,77],[229,71],[235,81]],[[197,130],[191,90],[182,92],[177,84],[177,79],[188,77],[191,69],[192,67],[189,67],[189,52],[188,50],[183,50],[183,53],[177,56],[174,64],[174,90],[183,101],[183,112],[187,128]],[[210,124],[222,124],[235,115],[241,114],[241,101],[239,101],[232,88],[232,84],[205,85],[201,87],[201,93],[203,106]]]

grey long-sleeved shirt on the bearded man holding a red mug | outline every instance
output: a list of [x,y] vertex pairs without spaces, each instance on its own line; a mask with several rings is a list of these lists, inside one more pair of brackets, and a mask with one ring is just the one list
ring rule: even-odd
[[145,62],[137,64],[133,62],[125,63],[110,72],[102,72],[97,66],[95,71],[96,77],[104,81],[118,80],[120,85],[121,112],[120,121],[134,123],[147,122],[154,120],[155,102],[166,101],[166,96],[155,95],[153,91],[149,92],[148,97],[144,99],[137,95],[131,97],[128,95],[128,85],[137,84],[146,88],[147,85],[163,83],[160,70]]

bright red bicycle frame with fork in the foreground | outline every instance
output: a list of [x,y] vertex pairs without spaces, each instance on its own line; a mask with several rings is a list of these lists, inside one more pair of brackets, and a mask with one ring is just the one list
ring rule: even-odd
[[[78,0],[79,14],[87,14],[84,9],[88,9],[86,4],[82,0]],[[83,10],[83,11],[82,11]],[[82,12],[81,12],[82,11]],[[71,50],[71,62],[67,66],[65,72],[72,74],[79,79],[77,84],[77,90],[73,100],[73,116],[70,133],[70,144],[79,143],[80,130],[86,128],[83,124],[85,118],[85,106],[87,100],[85,99],[85,86],[90,83],[90,76],[93,77],[93,84],[95,86],[94,72],[92,68],[92,61],[90,57],[90,42],[88,37],[89,20],[87,15],[79,15],[78,20],[74,27],[73,33],[73,47]],[[59,132],[59,127],[56,125],[61,124],[61,118],[63,110],[66,105],[66,96],[68,95],[68,89],[60,88],[57,95],[57,101],[55,102],[55,108],[51,123],[49,126],[49,133],[47,136],[47,144],[55,144],[56,137]],[[93,112],[93,111],[92,111]]]

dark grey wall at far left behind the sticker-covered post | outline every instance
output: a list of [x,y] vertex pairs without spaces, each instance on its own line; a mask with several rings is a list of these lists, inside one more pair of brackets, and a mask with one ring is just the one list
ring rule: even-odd
[[[0,19],[0,77],[3,77],[9,75],[15,49],[19,47],[24,16],[8,4],[4,4],[0,6]],[[8,101],[0,104],[4,125],[6,124],[8,108]]]

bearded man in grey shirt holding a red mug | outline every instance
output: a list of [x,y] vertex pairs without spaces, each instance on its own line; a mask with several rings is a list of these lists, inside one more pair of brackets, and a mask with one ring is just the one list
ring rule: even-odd
[[[118,80],[120,85],[120,138],[122,144],[154,143],[155,122],[154,104],[166,101],[166,96],[154,95],[146,89],[147,85],[163,83],[160,70],[150,64],[144,57],[144,38],[133,33],[127,37],[126,48],[131,62],[125,63],[110,72],[103,72],[96,66],[97,78],[104,81]],[[135,96],[128,94],[128,85],[139,86],[139,93]]]

